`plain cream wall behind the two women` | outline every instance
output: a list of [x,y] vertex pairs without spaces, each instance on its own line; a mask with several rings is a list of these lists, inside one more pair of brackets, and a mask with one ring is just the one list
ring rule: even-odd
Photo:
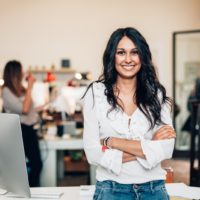
[[172,32],[200,28],[200,0],[0,0],[0,71],[9,59],[60,66],[69,58],[96,79],[110,34],[133,26],[146,37],[172,92]]

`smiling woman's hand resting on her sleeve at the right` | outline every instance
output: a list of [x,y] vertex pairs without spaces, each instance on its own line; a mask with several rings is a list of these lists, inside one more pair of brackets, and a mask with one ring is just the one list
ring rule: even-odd
[[156,133],[153,135],[152,140],[165,140],[175,137],[176,132],[174,128],[169,125],[164,125],[156,131]]

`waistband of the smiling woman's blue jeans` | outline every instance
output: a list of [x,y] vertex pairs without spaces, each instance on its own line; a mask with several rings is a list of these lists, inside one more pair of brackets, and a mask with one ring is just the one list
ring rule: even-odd
[[161,187],[165,185],[164,180],[155,180],[155,181],[149,181],[146,183],[141,184],[121,184],[115,181],[97,181],[96,187],[103,187],[103,188],[109,188],[109,189],[120,189],[120,190],[133,190],[133,189],[144,189],[144,190],[152,190],[156,189],[157,187]]

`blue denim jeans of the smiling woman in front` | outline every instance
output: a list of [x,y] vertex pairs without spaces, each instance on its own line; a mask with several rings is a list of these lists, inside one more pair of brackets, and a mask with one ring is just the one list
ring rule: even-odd
[[142,184],[97,181],[93,200],[169,200],[163,180]]

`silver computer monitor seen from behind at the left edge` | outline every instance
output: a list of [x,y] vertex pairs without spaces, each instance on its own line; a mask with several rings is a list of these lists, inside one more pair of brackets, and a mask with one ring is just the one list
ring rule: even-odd
[[0,113],[0,188],[30,197],[19,116]]

